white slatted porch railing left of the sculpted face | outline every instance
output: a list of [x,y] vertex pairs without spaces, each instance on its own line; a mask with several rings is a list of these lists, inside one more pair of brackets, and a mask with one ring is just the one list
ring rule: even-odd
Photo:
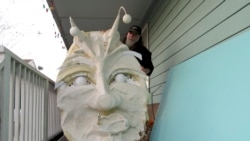
[[61,132],[54,82],[0,47],[0,141],[48,141]]

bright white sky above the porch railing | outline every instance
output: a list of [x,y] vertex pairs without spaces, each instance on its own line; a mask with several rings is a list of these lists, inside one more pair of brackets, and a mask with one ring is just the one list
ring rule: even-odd
[[67,53],[46,0],[0,0],[0,44],[54,81]]

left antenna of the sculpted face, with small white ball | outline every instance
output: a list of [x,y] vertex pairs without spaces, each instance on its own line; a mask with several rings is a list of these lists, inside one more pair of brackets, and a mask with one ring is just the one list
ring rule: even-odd
[[76,26],[74,20],[69,17],[71,28],[70,28],[70,34],[72,36],[77,36],[79,41],[82,42],[87,36],[84,31],[80,31],[79,28]]

